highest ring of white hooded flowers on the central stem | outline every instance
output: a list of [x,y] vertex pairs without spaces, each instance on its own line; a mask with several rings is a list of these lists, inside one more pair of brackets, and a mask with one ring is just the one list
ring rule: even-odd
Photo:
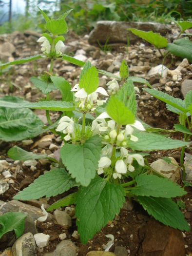
[[[100,93],[102,95],[108,96],[107,92],[102,87],[98,87],[95,92],[90,93],[88,95],[87,92],[84,90],[84,88],[81,89],[78,86],[78,84],[76,84],[71,91],[72,92],[77,92],[77,93],[75,93],[75,97],[76,97],[75,101],[79,101],[80,100],[81,103],[79,104],[79,108],[80,107],[84,108],[85,103],[89,103],[89,104],[93,105],[94,104],[94,100],[96,100],[98,98],[97,93]],[[102,104],[101,104],[101,102],[98,102],[98,105],[102,105]]]

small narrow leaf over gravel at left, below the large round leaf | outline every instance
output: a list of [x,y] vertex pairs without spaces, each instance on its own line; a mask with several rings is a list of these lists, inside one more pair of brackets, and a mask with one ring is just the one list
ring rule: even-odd
[[12,158],[14,160],[21,160],[21,161],[26,161],[31,159],[40,159],[40,158],[49,158],[46,154],[36,155],[22,148],[19,148],[17,146],[10,148],[7,152],[7,155],[9,156],[9,158]]

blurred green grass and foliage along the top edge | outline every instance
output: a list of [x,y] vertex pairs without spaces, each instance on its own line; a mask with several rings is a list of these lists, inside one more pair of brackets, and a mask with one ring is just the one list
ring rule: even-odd
[[[34,1],[25,1],[25,15],[12,15],[10,22],[4,22],[0,26],[0,34],[15,30],[22,32],[26,29],[44,32],[44,21]],[[67,21],[69,27],[77,34],[90,32],[98,20],[167,23],[170,22],[170,17],[176,20],[192,18],[192,0],[38,0],[37,3],[40,6],[44,4],[44,11],[54,19],[74,9]]]

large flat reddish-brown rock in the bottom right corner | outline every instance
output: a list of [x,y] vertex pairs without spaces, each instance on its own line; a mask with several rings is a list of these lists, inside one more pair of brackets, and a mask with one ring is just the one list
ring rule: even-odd
[[182,232],[151,219],[142,242],[142,256],[185,256]]

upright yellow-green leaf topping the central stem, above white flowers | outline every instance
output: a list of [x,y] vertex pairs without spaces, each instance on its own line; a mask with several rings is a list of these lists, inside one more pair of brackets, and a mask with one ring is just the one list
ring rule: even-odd
[[[84,69],[83,69],[84,70]],[[86,71],[83,71],[83,75],[81,75],[81,79],[79,79],[79,87],[85,90],[85,92],[89,95],[96,91],[98,88],[98,72],[96,67],[91,67]]]

